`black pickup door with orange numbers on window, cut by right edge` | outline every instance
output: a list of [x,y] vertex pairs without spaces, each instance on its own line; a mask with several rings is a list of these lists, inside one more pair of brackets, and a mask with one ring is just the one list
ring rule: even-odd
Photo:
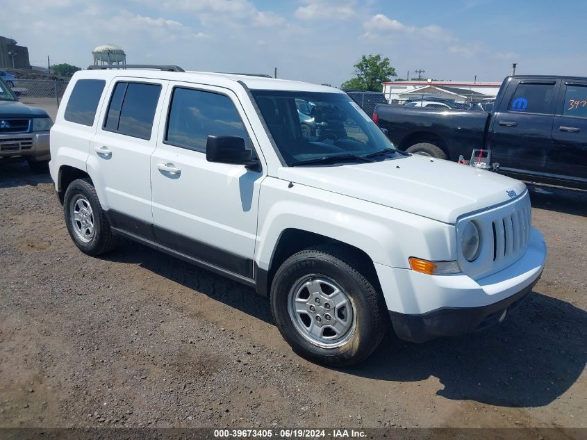
[[565,81],[545,172],[587,182],[587,81]]

